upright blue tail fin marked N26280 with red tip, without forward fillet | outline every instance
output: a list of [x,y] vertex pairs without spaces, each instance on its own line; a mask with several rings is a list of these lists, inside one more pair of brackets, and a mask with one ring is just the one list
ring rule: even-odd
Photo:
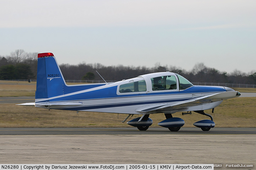
[[53,53],[39,53],[37,60],[36,99],[63,95],[62,72]]

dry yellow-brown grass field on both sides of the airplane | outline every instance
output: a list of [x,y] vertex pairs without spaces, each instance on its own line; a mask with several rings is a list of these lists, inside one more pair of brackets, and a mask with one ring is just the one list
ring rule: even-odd
[[[0,81],[0,96],[34,96],[36,83]],[[256,92],[254,89],[235,89]],[[215,127],[256,127],[256,97],[238,97],[223,101],[220,106],[206,111],[213,116]],[[121,121],[126,115],[94,112],[60,111],[0,104],[0,128],[53,128],[53,127],[132,127]],[[173,114],[185,120],[183,127],[194,127],[193,123],[208,117],[192,112],[192,115]],[[134,118],[134,117],[133,117]],[[153,127],[165,119],[164,114],[150,115]]]

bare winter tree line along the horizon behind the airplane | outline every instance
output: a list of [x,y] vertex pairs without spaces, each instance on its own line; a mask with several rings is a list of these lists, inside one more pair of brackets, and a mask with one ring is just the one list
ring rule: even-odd
[[[120,81],[137,77],[139,75],[154,72],[174,72],[182,75],[191,82],[199,83],[230,83],[230,84],[256,84],[256,72],[242,73],[234,70],[232,73],[220,72],[215,68],[209,68],[203,63],[194,65],[191,71],[175,66],[161,66],[156,63],[154,67],[133,66],[104,66],[100,63],[78,65],[59,65],[65,80],[102,80],[100,75],[108,81]],[[97,70],[97,72],[96,72]],[[0,56],[0,79],[36,79],[37,53],[27,53],[24,50],[16,50],[8,56]]]

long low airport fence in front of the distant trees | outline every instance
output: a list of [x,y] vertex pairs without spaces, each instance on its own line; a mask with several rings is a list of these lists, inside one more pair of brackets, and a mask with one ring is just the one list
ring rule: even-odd
[[[5,80],[5,81],[28,81],[28,80]],[[30,80],[36,81],[36,80]],[[66,83],[105,83],[103,80],[65,80]],[[115,80],[106,80],[107,83],[117,82]],[[239,87],[239,88],[256,88],[256,84],[231,84],[231,83],[199,83],[191,82],[193,85],[200,86],[225,86],[225,87]]]

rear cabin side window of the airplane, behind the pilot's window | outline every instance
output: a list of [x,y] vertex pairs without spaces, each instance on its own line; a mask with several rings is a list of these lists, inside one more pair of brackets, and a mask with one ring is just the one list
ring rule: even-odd
[[119,87],[120,93],[140,92],[140,91],[146,91],[145,80],[135,81],[133,83],[122,84]]

